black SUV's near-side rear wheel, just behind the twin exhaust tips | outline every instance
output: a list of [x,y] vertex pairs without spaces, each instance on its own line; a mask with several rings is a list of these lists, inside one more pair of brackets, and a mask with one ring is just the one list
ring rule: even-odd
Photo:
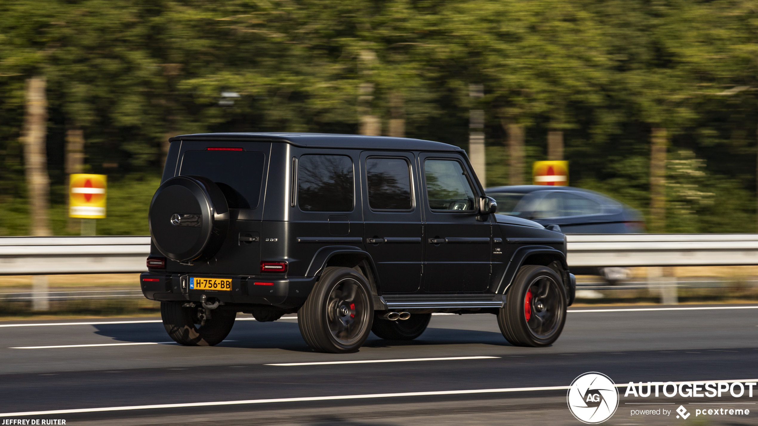
[[297,323],[300,334],[319,352],[355,352],[365,342],[374,319],[368,280],[355,269],[330,266],[324,269]]

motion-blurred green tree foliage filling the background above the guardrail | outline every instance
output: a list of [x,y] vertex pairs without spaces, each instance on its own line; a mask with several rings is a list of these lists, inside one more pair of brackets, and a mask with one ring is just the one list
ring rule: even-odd
[[506,123],[526,126],[527,174],[562,130],[572,185],[646,214],[650,129],[666,127],[669,231],[745,232],[756,26],[743,0],[3,2],[0,235],[27,232],[18,139],[32,75],[48,81],[56,234],[66,129],[83,129],[86,170],[111,182],[99,233],[128,235],[147,232],[170,135],[356,133],[370,114],[385,132],[402,117],[410,137],[465,148],[470,109],[487,117],[487,185],[507,184]]

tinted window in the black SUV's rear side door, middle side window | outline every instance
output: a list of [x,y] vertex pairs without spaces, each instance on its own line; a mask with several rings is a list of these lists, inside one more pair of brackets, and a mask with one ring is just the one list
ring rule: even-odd
[[410,210],[411,170],[402,158],[366,160],[368,206],[374,210]]

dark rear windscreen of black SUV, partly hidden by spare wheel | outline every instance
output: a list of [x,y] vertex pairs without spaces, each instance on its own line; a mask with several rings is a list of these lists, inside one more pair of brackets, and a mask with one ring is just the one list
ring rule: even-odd
[[230,209],[255,209],[261,196],[265,155],[253,151],[186,151],[179,174],[216,182]]

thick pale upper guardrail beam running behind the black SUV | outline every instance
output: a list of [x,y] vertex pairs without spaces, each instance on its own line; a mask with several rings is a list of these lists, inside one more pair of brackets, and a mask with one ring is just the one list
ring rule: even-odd
[[[758,265],[758,234],[572,234],[569,266]],[[0,237],[0,275],[143,272],[149,236]]]

